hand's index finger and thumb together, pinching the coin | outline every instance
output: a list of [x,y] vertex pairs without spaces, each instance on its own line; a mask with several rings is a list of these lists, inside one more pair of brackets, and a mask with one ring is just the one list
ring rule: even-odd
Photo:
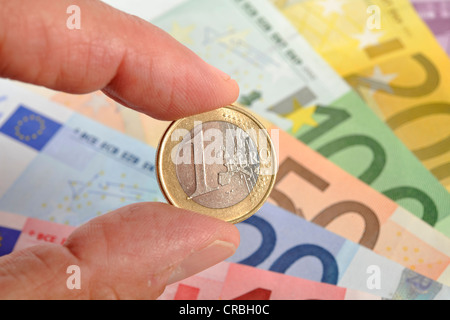
[[[121,104],[170,120],[234,102],[238,86],[164,31],[100,1],[0,0],[0,76],[70,93],[103,90]],[[154,299],[169,283],[231,256],[233,225],[162,203],[92,219],[63,246],[0,258],[2,299]],[[69,290],[78,265],[81,289]]]

